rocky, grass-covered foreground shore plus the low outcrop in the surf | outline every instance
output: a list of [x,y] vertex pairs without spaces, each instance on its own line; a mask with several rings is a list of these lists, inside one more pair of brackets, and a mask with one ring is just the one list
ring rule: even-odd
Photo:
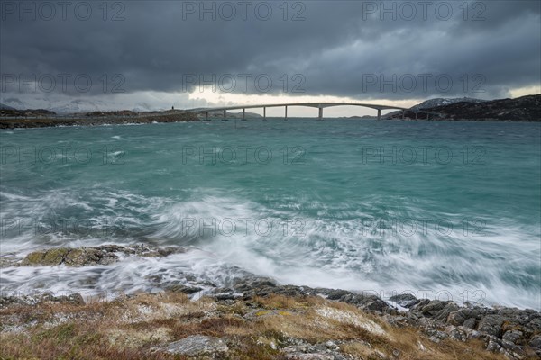
[[[60,247],[24,258],[4,256],[0,266],[108,266],[122,257],[168,257],[185,251],[189,250],[145,245]],[[69,341],[76,341],[88,336],[84,325],[103,320],[107,309],[116,307],[115,318],[134,307],[133,319],[117,319],[100,330],[106,334],[94,334],[100,340],[88,344],[87,350],[122,350],[132,358],[454,359],[462,352],[461,358],[541,359],[541,313],[534,310],[417,299],[409,293],[386,302],[372,293],[277,284],[255,275],[235,279],[228,287],[160,284],[159,277],[155,281],[162,292],[112,301],[86,301],[78,293],[2,294],[0,341],[8,349],[2,358],[48,358],[39,351],[45,340],[39,336],[36,340],[36,334],[60,331],[69,324],[70,334],[77,334]],[[203,288],[210,290],[201,296]],[[189,316],[164,310],[172,307],[179,313],[198,310],[192,309]],[[176,330],[187,327],[194,330],[181,334]],[[116,331],[113,344],[111,329]],[[408,339],[400,334],[408,334]],[[54,354],[50,358],[68,351],[66,344],[55,344],[50,345]],[[68,344],[73,351],[74,345]],[[250,349],[243,349],[246,344]],[[243,357],[244,352],[255,353]]]

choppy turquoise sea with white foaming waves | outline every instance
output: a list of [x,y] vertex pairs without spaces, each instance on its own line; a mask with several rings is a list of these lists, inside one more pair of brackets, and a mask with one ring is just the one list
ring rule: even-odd
[[[150,275],[541,309],[539,123],[359,120],[3,130],[2,254],[193,247],[2,269],[3,292],[152,291]],[[159,289],[158,289],[159,290]]]

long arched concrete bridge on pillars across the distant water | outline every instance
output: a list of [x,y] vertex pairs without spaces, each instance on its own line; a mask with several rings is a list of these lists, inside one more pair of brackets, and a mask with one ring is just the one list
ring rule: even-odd
[[[271,104],[259,104],[259,105],[236,105],[236,106],[222,106],[222,107],[213,107],[213,108],[197,108],[197,109],[188,109],[184,112],[189,113],[205,113],[206,120],[208,120],[208,113],[209,112],[224,112],[224,118],[226,117],[226,112],[228,110],[243,110],[243,120],[246,120],[246,109],[256,109],[256,108],[262,108],[263,109],[263,120],[267,120],[267,108],[268,107],[284,107],[285,108],[285,116],[284,119],[288,120],[288,107],[290,106],[306,106],[306,107],[313,107],[319,109],[318,119],[323,120],[323,109],[327,107],[332,106],[361,106],[361,107],[367,107],[370,109],[374,109],[378,111],[378,120],[381,120],[381,111],[382,110],[400,110],[401,111],[401,117],[404,117],[404,112],[409,110],[407,108],[399,107],[399,106],[391,106],[391,105],[377,105],[373,103],[271,103]],[[417,112],[423,112],[423,111],[417,111]],[[417,112],[416,119],[417,119]]]

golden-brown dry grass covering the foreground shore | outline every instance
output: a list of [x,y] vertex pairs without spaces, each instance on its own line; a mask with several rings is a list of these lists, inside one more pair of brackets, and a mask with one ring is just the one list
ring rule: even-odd
[[257,297],[250,302],[190,302],[179,293],[139,294],[84,305],[41,303],[0,310],[0,359],[182,359],[151,347],[191,335],[227,338],[229,358],[280,359],[290,338],[339,341],[362,359],[501,360],[478,341],[429,341],[418,329],[320,297]]

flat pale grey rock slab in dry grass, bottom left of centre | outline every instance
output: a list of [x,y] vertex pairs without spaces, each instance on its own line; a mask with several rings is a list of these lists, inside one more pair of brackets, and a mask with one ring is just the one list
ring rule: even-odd
[[214,356],[229,350],[221,338],[194,335],[154,350],[181,356]]

